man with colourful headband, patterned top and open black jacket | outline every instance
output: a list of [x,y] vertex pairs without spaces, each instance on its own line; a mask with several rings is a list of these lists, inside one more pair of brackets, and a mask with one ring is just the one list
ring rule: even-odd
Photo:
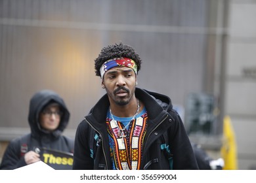
[[106,94],[77,127],[73,169],[198,169],[171,99],[137,88],[140,64],[122,42],[102,48],[95,73]]

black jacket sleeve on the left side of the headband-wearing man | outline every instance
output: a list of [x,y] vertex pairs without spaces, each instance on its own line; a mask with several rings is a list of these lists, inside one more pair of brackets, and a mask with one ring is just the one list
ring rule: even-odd
[[91,158],[88,136],[89,125],[83,121],[78,125],[75,133],[74,170],[93,169],[93,158]]

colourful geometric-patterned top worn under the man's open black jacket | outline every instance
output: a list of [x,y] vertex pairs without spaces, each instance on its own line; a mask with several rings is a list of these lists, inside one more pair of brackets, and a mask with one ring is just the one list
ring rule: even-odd
[[148,119],[146,109],[144,108],[137,116],[125,129],[125,135],[121,137],[119,129],[123,129],[132,118],[118,118],[114,116],[115,120],[112,120],[108,112],[106,124],[110,142],[110,156],[114,170],[137,170],[140,168]]

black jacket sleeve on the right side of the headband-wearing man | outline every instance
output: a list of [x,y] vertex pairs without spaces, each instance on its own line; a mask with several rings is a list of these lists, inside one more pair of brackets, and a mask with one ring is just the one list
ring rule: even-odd
[[171,139],[171,144],[173,144],[173,169],[197,170],[198,164],[181,117],[175,111],[170,113],[175,118],[174,127],[171,128],[171,134],[173,134]]

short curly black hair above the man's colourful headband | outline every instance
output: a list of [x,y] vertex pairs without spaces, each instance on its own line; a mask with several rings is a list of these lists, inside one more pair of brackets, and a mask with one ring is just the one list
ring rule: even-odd
[[102,64],[112,58],[129,58],[137,63],[137,71],[140,70],[141,58],[135,49],[131,46],[125,45],[122,42],[119,44],[112,44],[102,48],[98,58],[95,59],[95,73],[100,76],[100,67]]

